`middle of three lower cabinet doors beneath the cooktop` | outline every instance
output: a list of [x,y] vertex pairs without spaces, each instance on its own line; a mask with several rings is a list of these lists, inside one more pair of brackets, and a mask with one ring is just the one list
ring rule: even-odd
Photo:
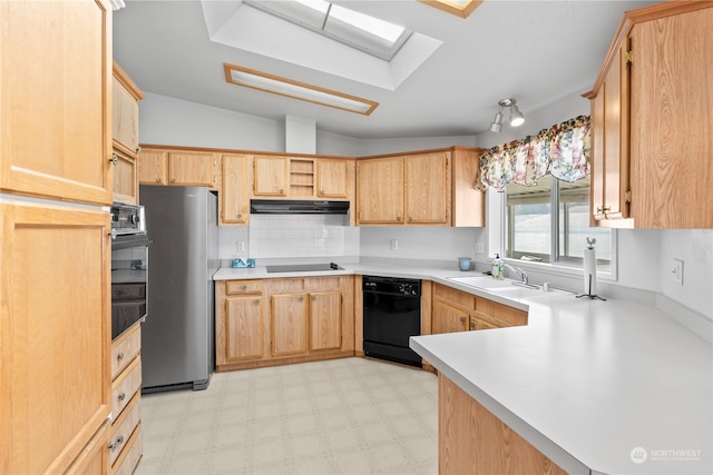
[[290,356],[307,352],[306,294],[283,294],[271,297],[272,355]]

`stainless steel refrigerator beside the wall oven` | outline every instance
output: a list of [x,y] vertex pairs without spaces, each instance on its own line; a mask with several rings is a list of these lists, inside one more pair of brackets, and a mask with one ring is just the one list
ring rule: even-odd
[[215,370],[213,274],[217,197],[203,187],[141,186],[148,238],[141,390],[208,387]]

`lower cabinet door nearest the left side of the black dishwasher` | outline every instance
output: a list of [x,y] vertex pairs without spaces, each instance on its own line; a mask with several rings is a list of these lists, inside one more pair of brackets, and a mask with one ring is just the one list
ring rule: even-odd
[[310,294],[310,352],[342,347],[342,293]]

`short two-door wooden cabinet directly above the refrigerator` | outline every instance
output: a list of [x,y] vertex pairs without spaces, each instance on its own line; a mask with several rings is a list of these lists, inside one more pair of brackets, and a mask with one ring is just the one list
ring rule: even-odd
[[138,160],[141,185],[216,187],[217,160],[212,151],[141,146]]

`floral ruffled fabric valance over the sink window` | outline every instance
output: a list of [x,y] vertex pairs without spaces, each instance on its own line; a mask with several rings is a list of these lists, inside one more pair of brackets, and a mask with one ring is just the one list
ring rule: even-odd
[[502,189],[514,182],[535,186],[548,172],[565,181],[589,175],[589,116],[579,116],[536,136],[494,147],[480,155],[473,188]]

